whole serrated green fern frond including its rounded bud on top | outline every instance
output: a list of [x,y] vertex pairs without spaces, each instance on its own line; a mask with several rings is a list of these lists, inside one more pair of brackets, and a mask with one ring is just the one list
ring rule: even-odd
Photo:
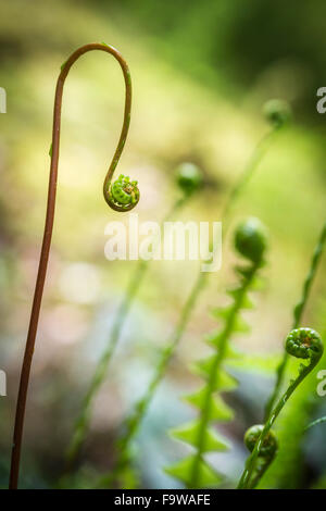
[[186,400],[199,411],[199,416],[172,432],[174,438],[195,449],[193,453],[166,469],[167,474],[179,479],[187,488],[212,487],[222,482],[221,474],[209,465],[204,457],[211,451],[228,449],[228,444],[216,434],[212,423],[233,419],[233,411],[224,402],[221,392],[233,390],[237,383],[225,370],[225,362],[234,357],[230,346],[233,335],[249,329],[240,312],[253,307],[248,295],[255,287],[264,265],[266,246],[265,228],[256,219],[247,220],[236,229],[235,247],[247,264],[237,266],[239,284],[229,291],[231,304],[214,312],[215,316],[222,317],[223,326],[208,336],[213,354],[195,366],[196,373],[204,378],[204,385],[187,396]]

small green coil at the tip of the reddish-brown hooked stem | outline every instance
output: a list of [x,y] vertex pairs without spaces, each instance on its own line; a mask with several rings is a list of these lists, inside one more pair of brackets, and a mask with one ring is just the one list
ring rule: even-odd
[[139,201],[137,180],[130,180],[128,176],[121,174],[110,184],[109,201],[116,211],[130,211]]

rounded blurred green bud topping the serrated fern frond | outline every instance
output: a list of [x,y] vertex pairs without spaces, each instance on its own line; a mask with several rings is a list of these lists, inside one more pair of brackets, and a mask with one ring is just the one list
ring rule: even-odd
[[248,219],[236,228],[235,247],[241,256],[253,263],[263,262],[267,247],[267,233],[260,220]]

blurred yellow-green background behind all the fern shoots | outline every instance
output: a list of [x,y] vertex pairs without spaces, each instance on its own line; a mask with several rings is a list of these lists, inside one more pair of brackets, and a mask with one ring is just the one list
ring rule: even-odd
[[[267,284],[248,315],[252,333],[237,344],[248,352],[278,353],[326,217],[326,119],[316,112],[316,89],[326,85],[325,16],[322,0],[1,1],[0,86],[8,95],[8,113],[0,115],[0,369],[8,374],[8,397],[0,398],[3,487],[43,227],[60,65],[91,41],[113,45],[127,59],[134,104],[118,171],[139,180],[140,220],[160,221],[170,209],[177,197],[174,170],[183,161],[202,167],[205,186],[179,219],[223,220],[227,192],[268,129],[262,104],[273,97],[291,103],[293,123],[264,157],[233,217],[235,225],[256,215],[271,236]],[[50,487],[60,476],[80,400],[136,264],[109,262],[103,252],[104,227],[117,213],[108,209],[101,187],[121,128],[124,87],[116,62],[98,53],[78,61],[64,91],[53,245],[26,414],[24,487]],[[161,470],[176,450],[166,429],[190,413],[178,396],[193,384],[189,362],[205,350],[202,336],[215,326],[209,312],[234,282],[234,262],[230,240],[224,239],[222,271],[211,276],[139,435],[145,487],[177,486]],[[305,325],[321,331],[326,331],[325,270],[324,260],[304,317]],[[121,422],[146,388],[197,272],[196,262],[152,263],[96,401],[80,459],[85,470],[112,465]],[[240,381],[233,398],[237,420],[225,427],[234,449],[216,461],[231,479],[246,456],[243,428],[261,420],[273,383],[271,375],[260,374]],[[312,414],[325,409],[324,401],[318,398]],[[300,453],[294,487],[310,486],[326,471],[321,432],[312,433]]]

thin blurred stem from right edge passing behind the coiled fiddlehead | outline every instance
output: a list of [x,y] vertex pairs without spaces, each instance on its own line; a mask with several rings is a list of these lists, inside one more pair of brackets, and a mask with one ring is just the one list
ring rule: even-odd
[[[297,306],[293,309],[292,329],[298,328],[298,326],[300,326],[302,314],[304,312],[304,308],[305,308],[305,304],[306,304],[308,299],[309,299],[310,290],[311,290],[315,274],[317,272],[319,260],[323,256],[325,244],[326,244],[326,222],[325,222],[325,224],[322,228],[317,245],[314,249],[314,253],[313,253],[313,257],[312,257],[312,260],[311,260],[311,265],[310,265],[308,275],[305,277],[305,281],[303,283],[302,296],[301,296],[299,302],[297,303]],[[271,395],[271,397],[267,401],[266,408],[265,408],[265,417],[267,417],[269,415],[271,410],[273,409],[273,407],[275,404],[275,401],[277,399],[278,392],[281,388],[281,385],[283,385],[283,382],[284,382],[284,378],[285,378],[285,373],[286,373],[288,359],[289,359],[289,354],[288,354],[287,351],[285,351],[283,360],[280,361],[280,363],[279,363],[279,365],[276,370],[276,383],[275,383],[274,390],[273,390],[273,392],[272,392],[272,395]]]

